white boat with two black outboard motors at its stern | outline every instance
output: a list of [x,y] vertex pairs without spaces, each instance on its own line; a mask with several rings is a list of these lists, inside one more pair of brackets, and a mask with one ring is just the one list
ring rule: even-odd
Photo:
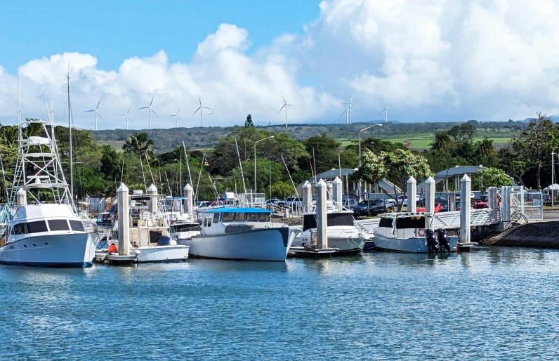
[[407,253],[456,251],[458,237],[446,230],[426,229],[425,213],[383,214],[373,230],[376,250]]

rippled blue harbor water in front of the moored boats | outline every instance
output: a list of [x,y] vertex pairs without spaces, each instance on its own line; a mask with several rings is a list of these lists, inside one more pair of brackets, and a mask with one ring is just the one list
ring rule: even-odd
[[559,252],[0,266],[0,360],[551,360]]

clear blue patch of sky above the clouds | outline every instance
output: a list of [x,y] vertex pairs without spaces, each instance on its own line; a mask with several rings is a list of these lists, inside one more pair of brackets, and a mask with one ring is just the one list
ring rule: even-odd
[[0,15],[0,65],[15,72],[34,58],[77,51],[95,55],[98,69],[113,70],[126,58],[151,56],[162,49],[171,63],[185,62],[221,23],[247,29],[254,50],[280,34],[302,34],[303,25],[320,15],[319,3],[5,1]]

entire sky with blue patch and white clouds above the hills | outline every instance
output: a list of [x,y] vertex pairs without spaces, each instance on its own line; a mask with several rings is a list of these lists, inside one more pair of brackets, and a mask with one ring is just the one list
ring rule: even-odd
[[[21,20],[25,18],[25,20]],[[7,1],[0,122],[98,129],[559,114],[559,0]],[[69,67],[70,63],[70,67]],[[199,96],[199,98],[198,98]],[[199,100],[200,99],[200,100]],[[157,114],[157,115],[156,115]]]

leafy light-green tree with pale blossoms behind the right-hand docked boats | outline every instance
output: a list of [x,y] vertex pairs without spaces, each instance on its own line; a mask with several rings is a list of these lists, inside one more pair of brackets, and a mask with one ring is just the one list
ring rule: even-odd
[[[389,196],[396,199],[396,187],[401,188],[406,195],[407,180],[410,176],[421,180],[433,176],[433,172],[425,157],[416,155],[410,150],[397,149],[394,152],[381,152],[380,155],[365,150],[362,153],[362,166],[353,173],[353,176],[367,180],[371,184],[385,179],[390,180],[394,184],[394,194]],[[398,211],[402,210],[402,204],[403,202],[398,205]]]

